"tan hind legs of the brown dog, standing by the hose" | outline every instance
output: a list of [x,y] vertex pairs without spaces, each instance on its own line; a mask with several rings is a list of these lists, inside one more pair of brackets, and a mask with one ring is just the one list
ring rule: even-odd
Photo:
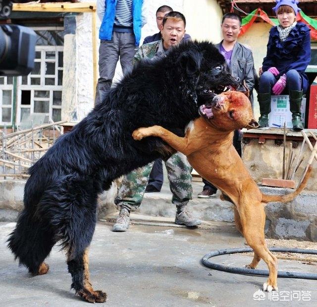
[[265,212],[263,203],[248,204],[239,208],[243,225],[243,234],[249,246],[255,252],[250,265],[255,265],[260,258],[266,263],[269,275],[263,284],[264,291],[277,290],[277,258],[268,250],[264,239]]

